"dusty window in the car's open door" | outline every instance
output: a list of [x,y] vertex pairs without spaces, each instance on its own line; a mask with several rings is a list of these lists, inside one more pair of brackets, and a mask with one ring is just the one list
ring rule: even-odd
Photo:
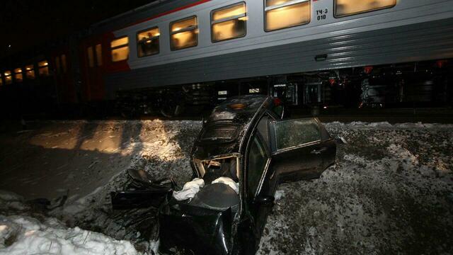
[[277,150],[288,149],[321,139],[319,125],[314,119],[284,120],[275,123]]

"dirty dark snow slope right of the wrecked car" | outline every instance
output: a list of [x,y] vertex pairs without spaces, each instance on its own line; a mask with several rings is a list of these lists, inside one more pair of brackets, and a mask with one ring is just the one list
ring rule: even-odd
[[453,125],[326,127],[336,165],[280,186],[258,254],[451,254]]

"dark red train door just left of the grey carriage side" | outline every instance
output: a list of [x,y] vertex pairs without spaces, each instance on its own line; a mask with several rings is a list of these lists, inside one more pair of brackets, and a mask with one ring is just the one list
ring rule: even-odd
[[82,43],[82,70],[84,73],[84,100],[101,101],[104,94],[103,66],[104,47],[101,40],[87,40]]

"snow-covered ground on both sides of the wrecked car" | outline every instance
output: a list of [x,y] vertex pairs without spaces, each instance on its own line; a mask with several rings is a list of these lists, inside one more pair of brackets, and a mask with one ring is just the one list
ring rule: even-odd
[[[16,195],[0,199],[0,254],[32,243],[39,252],[83,247],[84,253],[95,241],[112,253],[151,253],[156,212],[114,212],[108,194],[124,185],[129,167],[180,184],[190,180],[188,155],[201,123],[39,125],[0,134],[0,189],[26,200],[49,198],[55,209],[42,212]],[[321,179],[280,186],[258,253],[452,253],[453,125],[326,126],[347,142],[338,146],[336,165]],[[67,200],[58,207],[62,196]]]

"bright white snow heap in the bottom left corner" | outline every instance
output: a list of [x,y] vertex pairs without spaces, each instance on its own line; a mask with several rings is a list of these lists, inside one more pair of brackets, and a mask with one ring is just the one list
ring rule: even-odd
[[53,218],[0,215],[0,254],[138,254],[127,241],[79,227],[67,228]]

